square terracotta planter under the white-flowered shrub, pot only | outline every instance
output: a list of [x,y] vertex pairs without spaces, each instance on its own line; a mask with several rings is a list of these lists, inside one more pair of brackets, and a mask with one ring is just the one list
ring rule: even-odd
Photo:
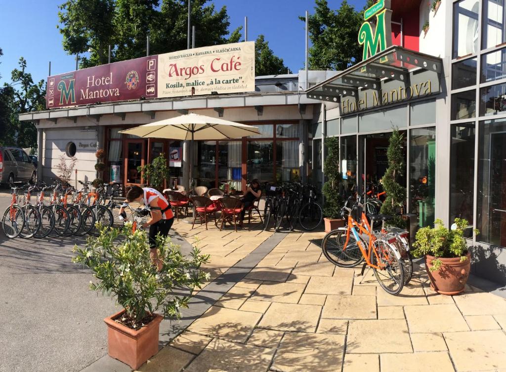
[[163,317],[156,314],[146,326],[134,330],[114,321],[124,312],[122,310],[104,319],[107,324],[108,354],[138,369],[158,352],[158,330]]

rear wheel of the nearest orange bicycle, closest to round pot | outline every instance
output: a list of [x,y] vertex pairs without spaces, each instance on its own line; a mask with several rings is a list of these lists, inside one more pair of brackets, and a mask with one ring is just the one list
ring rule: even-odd
[[394,250],[383,239],[378,239],[373,243],[373,249],[376,251],[378,259],[374,252],[371,254],[371,263],[376,266],[383,266],[381,269],[373,268],[374,276],[382,288],[391,295],[397,295],[404,286],[404,269],[402,263],[396,257]]

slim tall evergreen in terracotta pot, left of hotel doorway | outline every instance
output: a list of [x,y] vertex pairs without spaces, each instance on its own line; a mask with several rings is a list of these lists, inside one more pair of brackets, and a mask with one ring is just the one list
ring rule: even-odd
[[328,149],[328,154],[323,164],[323,172],[327,180],[322,188],[325,197],[323,220],[325,221],[325,232],[329,232],[345,225],[345,220],[341,218],[343,198],[340,193],[342,176],[339,172],[339,138],[326,138],[325,147]]

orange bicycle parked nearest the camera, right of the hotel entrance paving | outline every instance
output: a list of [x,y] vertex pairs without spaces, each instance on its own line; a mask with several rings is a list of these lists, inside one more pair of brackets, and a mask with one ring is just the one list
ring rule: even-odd
[[348,213],[348,226],[330,231],[322,241],[322,251],[327,260],[340,267],[355,267],[365,260],[365,266],[372,268],[374,276],[382,288],[397,295],[404,286],[404,267],[396,247],[397,237],[385,229],[374,233],[371,226],[374,220],[383,223],[390,216],[371,215],[371,222],[363,212],[363,206],[355,203],[353,208],[345,206],[342,215]]

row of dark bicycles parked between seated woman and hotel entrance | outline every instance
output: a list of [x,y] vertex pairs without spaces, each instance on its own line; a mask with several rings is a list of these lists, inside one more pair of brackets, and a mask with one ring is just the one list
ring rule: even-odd
[[290,231],[298,225],[303,230],[315,230],[323,220],[321,205],[317,202],[317,190],[313,185],[291,182],[282,186],[264,185],[264,230],[279,231],[284,224]]

